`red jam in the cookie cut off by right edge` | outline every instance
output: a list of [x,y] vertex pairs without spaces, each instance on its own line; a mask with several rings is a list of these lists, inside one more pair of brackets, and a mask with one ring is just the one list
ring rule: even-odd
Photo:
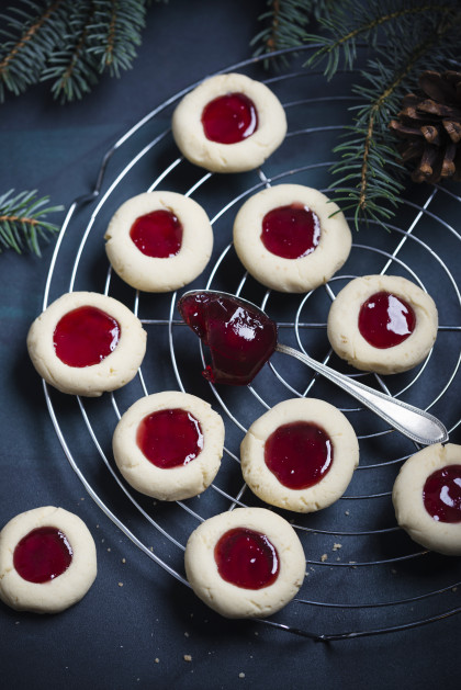
[[424,485],[423,501],[437,522],[461,522],[461,465],[432,472]]

